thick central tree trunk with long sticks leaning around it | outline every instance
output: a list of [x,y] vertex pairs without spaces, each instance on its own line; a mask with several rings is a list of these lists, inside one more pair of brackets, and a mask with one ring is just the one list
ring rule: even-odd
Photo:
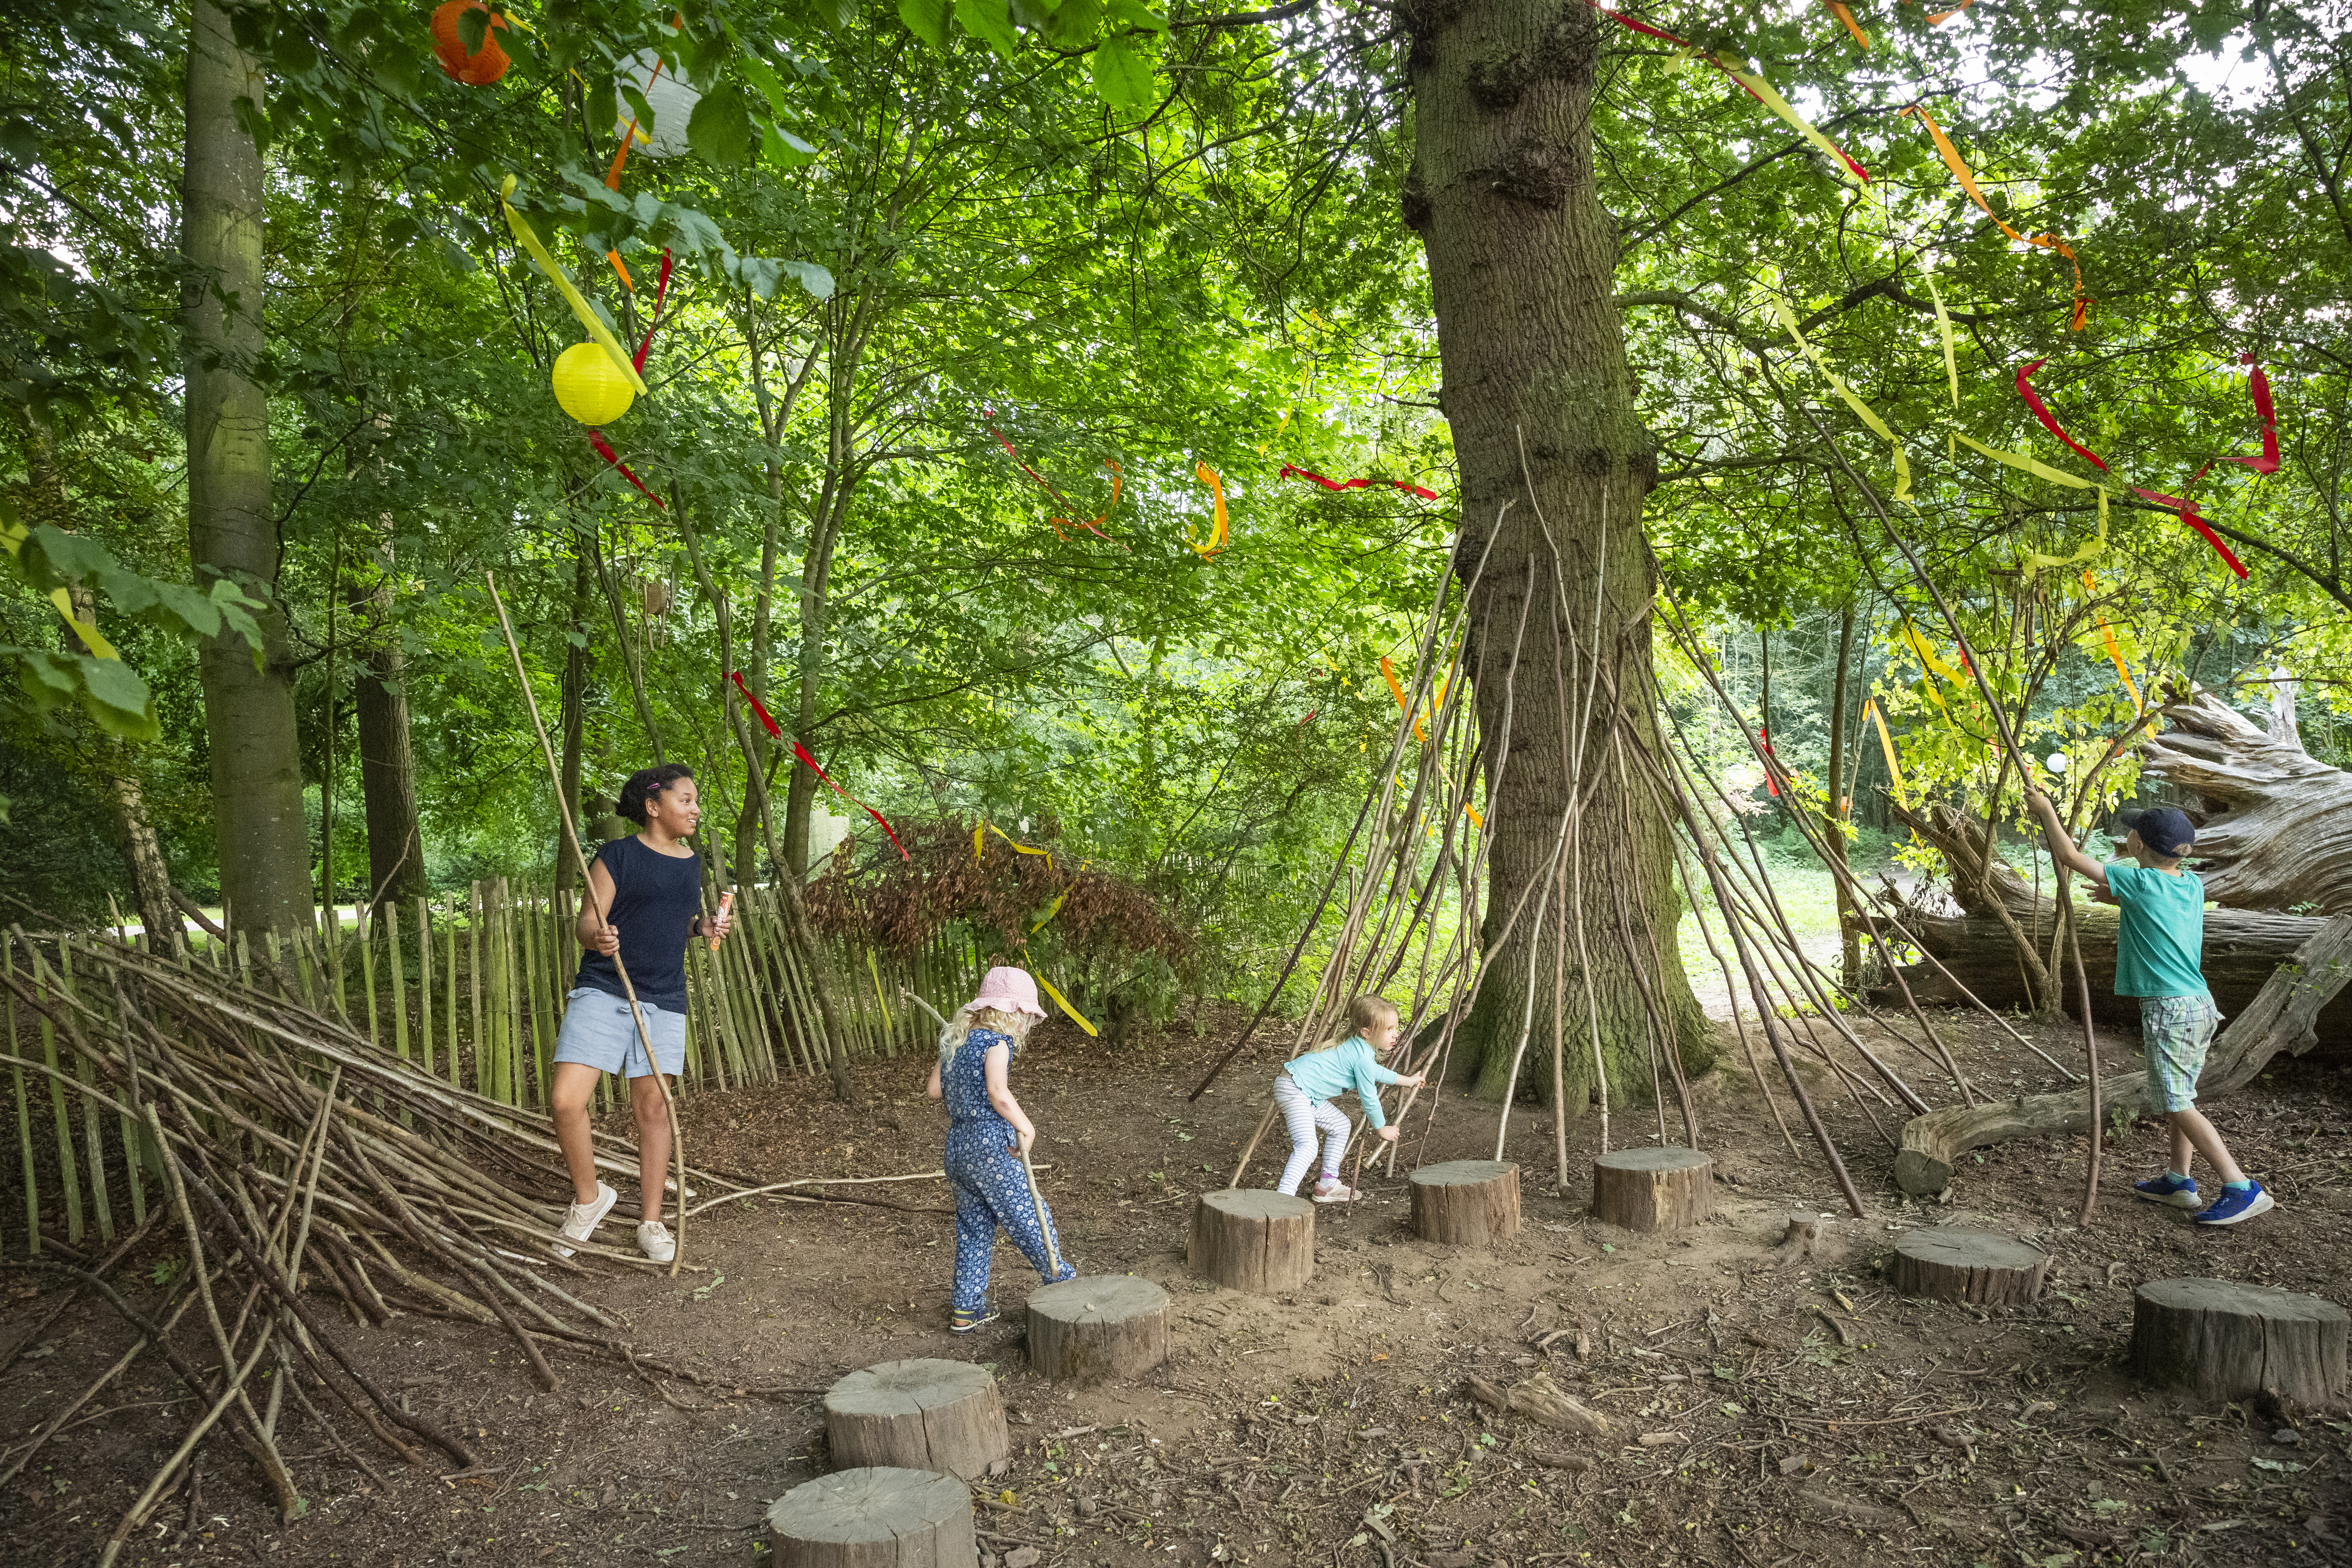
[[[1470,602],[1479,724],[1489,757],[1486,938],[1498,936],[1519,893],[1552,875],[1552,846],[1569,802],[1564,701],[1583,701],[1595,595],[1599,658],[1613,686],[1646,715],[1649,607],[1653,592],[1642,498],[1656,482],[1656,442],[1632,407],[1632,376],[1613,303],[1616,223],[1592,183],[1592,80],[1597,16],[1538,0],[1414,0],[1414,169],[1404,221],[1428,247],[1444,367],[1444,416],[1461,463],[1463,520],[1454,569],[1479,569]],[[1529,491],[1534,484],[1534,491]],[[1508,510],[1505,510],[1508,508]],[[1550,541],[1538,527],[1550,524]],[[1489,552],[1489,541],[1494,543]],[[1555,557],[1555,543],[1559,555]],[[1562,581],[1564,578],[1564,581]],[[1569,630],[1552,616],[1566,590]],[[1534,602],[1529,602],[1534,597]],[[1526,614],[1524,639],[1519,635]],[[1609,682],[1604,682],[1606,686]],[[1637,719],[1646,729],[1646,717]],[[1613,936],[1618,903],[1689,1067],[1712,1056],[1675,945],[1677,900],[1668,825],[1637,778],[1613,780],[1606,703],[1592,712],[1588,778],[1611,783],[1581,830],[1573,917],[1588,926],[1588,976],[1571,952],[1566,1098],[1588,1098],[1592,1051],[1585,987],[1599,1013],[1611,1084],[1653,1084],[1649,1030],[1635,969]],[[1458,1034],[1456,1070],[1482,1093],[1505,1088],[1536,987],[1548,1009],[1557,919],[1519,919],[1489,957],[1486,983]],[[1526,1074],[1534,1081],[1548,1074]]]

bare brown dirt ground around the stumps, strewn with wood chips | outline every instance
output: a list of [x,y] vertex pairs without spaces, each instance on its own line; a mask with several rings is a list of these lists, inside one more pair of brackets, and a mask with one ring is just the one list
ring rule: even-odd
[[[1317,1211],[1308,1288],[1251,1298],[1195,1281],[1183,1262],[1192,1194],[1223,1185],[1277,1063],[1254,1048],[1185,1103],[1240,1023],[1211,1009],[1200,1027],[1178,1020],[1105,1048],[1056,1020],[1014,1067],[1068,1255],[1174,1298],[1174,1359],[1138,1385],[1065,1392],[1030,1375],[1021,1302],[1037,1281],[1009,1244],[995,1276],[1004,1316],[946,1333],[953,1222],[938,1180],[849,1190],[903,1208],[741,1201],[691,1222],[689,1260],[706,1272],[595,1281],[640,1347],[722,1387],[654,1387],[557,1359],[562,1387],[543,1394],[499,1335],[414,1316],[383,1331],[339,1324],[421,1413],[477,1434],[496,1474],[452,1483],[362,1441],[369,1476],[289,1415],[280,1441],[310,1497],[306,1519],[280,1528],[221,1441],[122,1561],[748,1568],[769,1500],[826,1469],[816,1392],[901,1356],[978,1361],[1004,1385],[1014,1455],[981,1493],[983,1568],[2352,1561],[2343,1410],[2201,1406],[2145,1392],[2122,1366],[2143,1279],[2352,1300],[2340,1246],[2352,1081],[2333,1067],[2279,1067],[2213,1107],[2281,1204],[2220,1234],[2133,1201],[2129,1180],[2161,1164],[2154,1124],[2110,1143],[2089,1227],[2074,1222],[2082,1138],[1987,1150],[1964,1161],[1947,1204],[1905,1204],[1891,1143],[1823,1077],[1816,1095],[1870,1208],[1853,1220],[1823,1161],[1780,1143],[1740,1067],[1698,1086],[1717,1161],[1710,1222],[1672,1237],[1597,1225],[1585,1204],[1599,1119],[1571,1124],[1571,1192],[1555,1197],[1550,1114],[1522,1105],[1508,1154],[1524,1166],[1524,1232],[1496,1251],[1442,1248],[1406,1227],[1409,1159],[1491,1157],[1498,1114],[1446,1093],[1428,1135],[1414,1114],[1397,1175],[1367,1161],[1364,1201]],[[1992,1025],[1945,1027],[1978,1081],[2037,1091],[2051,1077]],[[2065,1060],[2082,1051],[2067,1030],[2044,1044]],[[2107,1067],[2136,1048],[2107,1037]],[[687,1147],[696,1164],[767,1180],[934,1171],[943,1114],[922,1098],[924,1065],[866,1067],[870,1098],[856,1110],[802,1079],[694,1095]],[[1922,1063],[1910,1067],[1931,1084]],[[1898,1110],[1870,1110],[1889,1135],[1900,1126]],[[1611,1131],[1621,1147],[1651,1143],[1658,1119],[1621,1105]],[[1277,1128],[1277,1159],[1282,1145]],[[1261,1152],[1249,1185],[1272,1180]],[[1773,1253],[1792,1211],[1835,1215],[1811,1260]],[[1877,1269],[1915,1225],[2020,1234],[2056,1255],[2051,1288],[2025,1309],[1903,1300]],[[160,1295],[148,1274],[167,1253],[158,1241],[118,1269],[134,1302]],[[129,1345],[108,1312],[75,1307],[9,1354],[56,1286],[5,1281],[0,1469]],[[1576,1333],[1536,1347],[1578,1324],[1588,1354]],[[1538,1368],[1606,1413],[1609,1436],[1573,1439],[1465,1394],[1470,1375],[1510,1385]],[[92,1561],[179,1439],[191,1406],[174,1396],[139,1363],[52,1441],[0,1490],[0,1561]]]

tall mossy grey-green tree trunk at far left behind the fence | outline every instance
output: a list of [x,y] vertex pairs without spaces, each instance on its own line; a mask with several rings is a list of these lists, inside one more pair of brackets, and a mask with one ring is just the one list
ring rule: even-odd
[[200,588],[226,576],[268,602],[261,668],[226,630],[198,651],[221,896],[240,924],[266,931],[310,922],[310,844],[278,609],[268,400],[252,376],[263,353],[261,148],[238,122],[240,99],[263,101],[261,63],[238,49],[212,0],[195,0],[181,193],[188,559]]

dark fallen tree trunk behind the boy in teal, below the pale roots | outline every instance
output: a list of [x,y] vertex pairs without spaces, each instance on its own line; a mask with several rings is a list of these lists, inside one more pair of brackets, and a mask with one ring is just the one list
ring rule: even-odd
[[[2002,858],[1992,860],[1990,886],[1983,875],[1985,827],[1976,818],[1950,806],[1926,806],[1893,813],[1922,839],[1943,851],[1952,867],[1952,896],[1962,914],[1936,914],[1917,905],[1900,917],[1903,936],[1933,954],[1931,961],[1903,966],[1903,980],[1922,1006],[1964,1004],[1962,985],[1980,1001],[2004,1011],[2037,1011],[2044,1001],[2042,983],[2027,971],[2018,954],[2023,936],[2044,959],[2051,983],[2060,966],[2049,964],[2051,945],[2058,938],[2058,905],[2032,886]],[[2082,964],[2091,980],[2091,1018],[2117,1027],[2138,1027],[2140,1004],[2136,997],[2114,994],[2114,933],[2122,912],[2114,905],[2077,900],[2074,919],[2082,933]],[[2213,1001],[2223,1018],[2237,1018],[2270,983],[2279,964],[2293,961],[2296,952],[2326,924],[2317,914],[2272,914],[2265,910],[2206,910],[2204,976],[2213,990]],[[1957,985],[1955,985],[1957,980]],[[1893,987],[1877,992],[1891,999]],[[2063,985],[2058,994],[2072,1013],[2074,987]],[[2319,1044],[2352,1046],[2352,997],[2338,997],[2319,1011]]]

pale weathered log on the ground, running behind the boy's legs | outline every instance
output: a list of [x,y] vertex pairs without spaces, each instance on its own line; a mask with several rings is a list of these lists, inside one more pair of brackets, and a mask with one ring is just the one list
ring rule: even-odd
[[[2223,1027],[2206,1056],[2206,1070],[2197,1077],[2197,1098],[2211,1100],[2244,1088],[2281,1051],[2286,1056],[2310,1051],[2312,1020],[2347,983],[2352,983],[2352,914],[2338,914],[2319,922],[2291,961],[2272,969],[2246,1011]],[[2138,1114],[2147,1110],[2147,1074],[2133,1070],[2100,1079],[2100,1098],[2107,1112]],[[2086,1088],[2018,1095],[1992,1105],[1955,1105],[1912,1117],[1903,1124],[1903,1147],[1896,1152],[1896,1185],[1915,1197],[1943,1192],[1952,1180],[1952,1166],[1969,1150],[2034,1133],[2079,1133],[2089,1126]]]

